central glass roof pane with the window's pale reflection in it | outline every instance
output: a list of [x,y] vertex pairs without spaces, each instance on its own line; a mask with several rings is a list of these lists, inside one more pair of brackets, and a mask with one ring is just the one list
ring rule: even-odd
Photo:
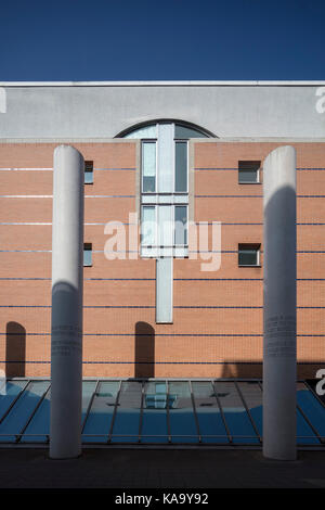
[[[168,443],[167,387],[165,382],[145,383],[141,443]],[[157,435],[155,435],[157,434]],[[145,437],[145,436],[151,437]]]

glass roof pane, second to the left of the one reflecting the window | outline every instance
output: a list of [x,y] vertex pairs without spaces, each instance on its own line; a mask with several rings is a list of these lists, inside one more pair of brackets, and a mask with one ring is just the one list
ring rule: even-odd
[[119,381],[104,381],[99,384],[83,428],[83,443],[107,442],[118,388]]

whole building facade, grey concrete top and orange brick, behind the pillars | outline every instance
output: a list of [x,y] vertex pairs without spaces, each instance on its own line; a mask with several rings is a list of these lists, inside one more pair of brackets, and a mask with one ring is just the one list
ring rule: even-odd
[[84,377],[261,377],[263,161],[281,145],[297,151],[298,375],[315,377],[324,84],[0,87],[6,375],[50,374],[53,151],[64,143],[86,161]]

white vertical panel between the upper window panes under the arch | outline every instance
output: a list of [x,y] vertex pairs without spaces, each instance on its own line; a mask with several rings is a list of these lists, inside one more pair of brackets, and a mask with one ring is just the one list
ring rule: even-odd
[[173,124],[159,124],[158,129],[158,192],[170,193],[174,188],[174,127]]

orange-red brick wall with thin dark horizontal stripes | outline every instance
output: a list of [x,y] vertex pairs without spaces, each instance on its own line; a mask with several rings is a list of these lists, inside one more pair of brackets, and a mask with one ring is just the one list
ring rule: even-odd
[[[103,225],[84,227],[84,242],[98,251],[93,266],[84,268],[84,375],[134,377],[140,369],[155,377],[261,375],[263,269],[239,268],[236,251],[242,242],[262,243],[262,225],[238,225],[262,224],[262,186],[238,184],[236,168],[239,160],[262,161],[280,144],[195,143],[195,221],[222,221],[223,253],[216,272],[203,272],[199,259],[174,260],[173,324],[155,323],[154,260],[108,262],[103,254],[104,224],[127,222],[129,212],[135,211],[135,143],[74,144],[94,162],[94,183],[86,187],[87,195],[131,195],[86,199],[84,221]],[[308,168],[297,171],[298,194],[325,195],[325,144],[292,144],[298,168]],[[2,144],[0,167],[51,168],[54,146]],[[46,170],[0,170],[0,194],[51,195],[52,177]],[[298,306],[312,307],[298,309],[300,377],[313,377],[325,362],[325,280],[320,280],[325,278],[324,204],[322,197],[298,199],[298,252],[312,252],[297,255]],[[2,368],[5,360],[15,360],[13,348],[21,359],[22,335],[6,335],[8,328],[15,331],[10,322],[26,330],[25,364],[6,362],[11,373],[50,373],[51,225],[4,224],[51,224],[51,197],[0,197]],[[154,349],[148,348],[146,358],[143,342],[153,339],[135,336],[139,322],[155,330]],[[153,357],[154,367],[135,365]]]

